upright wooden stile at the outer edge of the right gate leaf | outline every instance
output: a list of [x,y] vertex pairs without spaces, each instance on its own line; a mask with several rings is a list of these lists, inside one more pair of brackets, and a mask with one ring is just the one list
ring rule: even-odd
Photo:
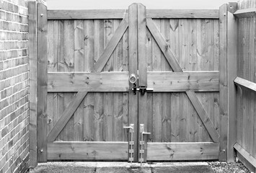
[[[220,26],[220,161],[226,161],[226,145],[228,130],[228,96],[227,96],[227,4],[219,8],[219,26]],[[231,161],[231,158],[229,158]]]

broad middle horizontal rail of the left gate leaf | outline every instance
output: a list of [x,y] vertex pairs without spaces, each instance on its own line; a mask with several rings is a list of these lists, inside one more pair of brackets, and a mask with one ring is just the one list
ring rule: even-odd
[[128,92],[128,72],[48,73],[48,92]]

